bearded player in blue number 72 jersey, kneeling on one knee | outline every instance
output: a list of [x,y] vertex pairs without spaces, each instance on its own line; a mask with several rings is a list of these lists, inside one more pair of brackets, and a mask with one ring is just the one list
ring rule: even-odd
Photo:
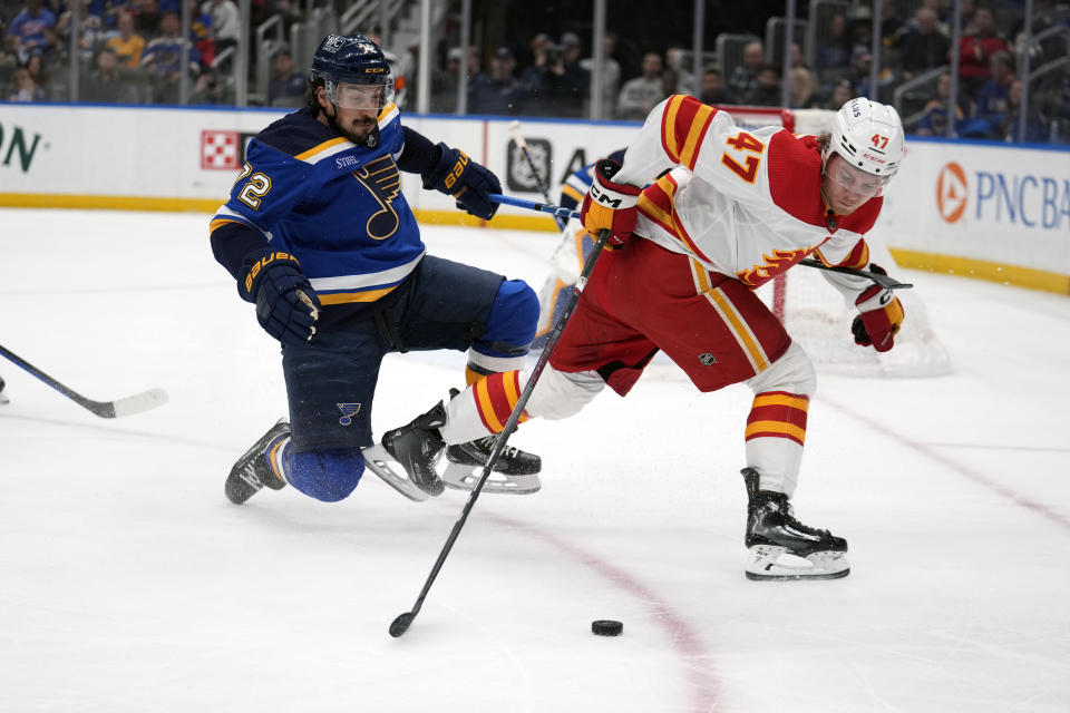
[[[535,293],[522,281],[428,255],[399,170],[419,174],[425,188],[484,219],[497,208],[487,199],[502,191],[497,177],[402,126],[392,89],[372,41],[328,36],[312,61],[308,107],[250,141],[230,199],[212,218],[216,260],[282,343],[290,406],[289,422],[280,420],[234,463],[225,494],[235,504],[286,484],[329,502],[349,496],[364,470],[362,447],[372,443],[372,399],[387,353],[467,350],[468,383],[519,369],[527,354]],[[481,467],[492,447],[492,438],[464,443],[447,458]],[[418,457],[389,432],[381,448],[402,466]],[[516,449],[503,460],[506,473],[541,469],[537,456]],[[438,478],[414,485],[421,491],[414,499],[444,489]]]

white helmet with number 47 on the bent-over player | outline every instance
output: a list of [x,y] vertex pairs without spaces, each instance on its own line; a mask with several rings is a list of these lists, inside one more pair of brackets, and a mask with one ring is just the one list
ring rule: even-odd
[[903,160],[903,123],[892,107],[865,97],[849,100],[833,117],[824,164],[835,152],[848,164],[887,183]]

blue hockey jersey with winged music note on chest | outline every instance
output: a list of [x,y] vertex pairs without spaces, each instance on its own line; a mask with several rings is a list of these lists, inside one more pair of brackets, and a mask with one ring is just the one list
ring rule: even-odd
[[265,241],[296,257],[323,305],[373,302],[419,264],[425,246],[401,194],[397,107],[379,115],[374,148],[302,109],[250,141],[230,199],[212,217],[213,246],[235,276]]

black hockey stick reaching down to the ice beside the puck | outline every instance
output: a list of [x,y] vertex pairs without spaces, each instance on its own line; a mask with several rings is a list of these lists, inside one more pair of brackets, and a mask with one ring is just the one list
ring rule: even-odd
[[468,501],[465,504],[465,509],[461,510],[460,518],[458,518],[457,522],[454,525],[454,529],[450,530],[449,537],[446,538],[446,544],[442,545],[442,550],[438,554],[438,559],[435,560],[435,566],[431,567],[431,574],[427,576],[427,582],[424,583],[424,588],[420,590],[420,596],[416,598],[416,604],[409,612],[399,614],[398,617],[390,623],[390,636],[397,638],[409,631],[412,619],[415,619],[416,615],[420,613],[420,608],[424,606],[424,599],[427,597],[427,593],[435,583],[435,578],[438,577],[438,572],[442,568],[442,564],[446,561],[449,550],[453,549],[454,543],[457,540],[457,536],[460,535],[460,528],[465,526],[465,521],[468,519],[468,514],[471,512],[471,507],[476,504],[476,499],[479,497],[479,492],[483,490],[484,484],[487,481],[487,478],[490,477],[490,472],[494,470],[494,465],[502,456],[502,451],[505,450],[505,443],[509,440],[509,434],[516,430],[516,424],[521,420],[521,414],[524,412],[524,407],[527,406],[527,400],[532,397],[532,391],[535,389],[535,382],[538,381],[539,375],[543,373],[543,369],[546,368],[546,363],[549,361],[549,355],[553,353],[554,348],[557,345],[557,340],[561,338],[561,333],[565,329],[565,323],[568,322],[568,318],[572,316],[573,311],[576,309],[576,303],[580,302],[580,293],[583,292],[584,286],[586,286],[587,279],[591,276],[591,273],[594,272],[594,264],[597,262],[599,255],[602,254],[602,248],[605,247],[605,243],[609,240],[609,229],[604,229],[599,234],[599,242],[594,244],[594,250],[591,251],[590,255],[587,255],[587,260],[583,264],[583,272],[580,273],[580,280],[576,281],[575,286],[572,289],[572,294],[568,296],[568,304],[565,305],[565,309],[561,312],[561,316],[557,318],[557,322],[554,324],[554,331],[549,334],[549,341],[546,342],[546,348],[543,349],[543,353],[539,355],[538,361],[535,362],[535,367],[532,369],[532,373],[527,378],[527,383],[524,385],[524,391],[521,392],[521,398],[517,400],[516,406],[513,407],[513,412],[509,413],[509,420],[506,421],[505,428],[502,429],[502,432],[498,433],[498,437],[494,441],[494,449],[490,451],[490,457],[487,459],[487,465],[483,467],[483,475],[479,477],[479,482],[477,482],[476,487],[471,489],[471,495],[468,496]]

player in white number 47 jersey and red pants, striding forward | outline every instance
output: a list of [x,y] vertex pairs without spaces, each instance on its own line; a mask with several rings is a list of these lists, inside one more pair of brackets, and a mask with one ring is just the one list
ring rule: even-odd
[[[814,367],[755,290],[807,256],[864,268],[863,236],[903,154],[898,115],[865,98],[845,104],[821,137],[746,130],[692,97],[662,101],[623,166],[597,165],[582,221],[593,234],[609,228],[613,250],[581,293],[521,421],[572,416],[606,384],[626,394],[659,350],[700,391],[746,382],[755,392],[742,470],[747,576],[846,576],[846,540],[801,524],[790,501]],[[858,309],[855,342],[892,349],[904,316],[898,299],[864,276],[824,274]],[[499,432],[527,378],[488,375],[449,401],[445,424],[420,417],[398,429],[395,443],[434,457],[445,445]],[[432,457],[414,462],[432,468]]]

